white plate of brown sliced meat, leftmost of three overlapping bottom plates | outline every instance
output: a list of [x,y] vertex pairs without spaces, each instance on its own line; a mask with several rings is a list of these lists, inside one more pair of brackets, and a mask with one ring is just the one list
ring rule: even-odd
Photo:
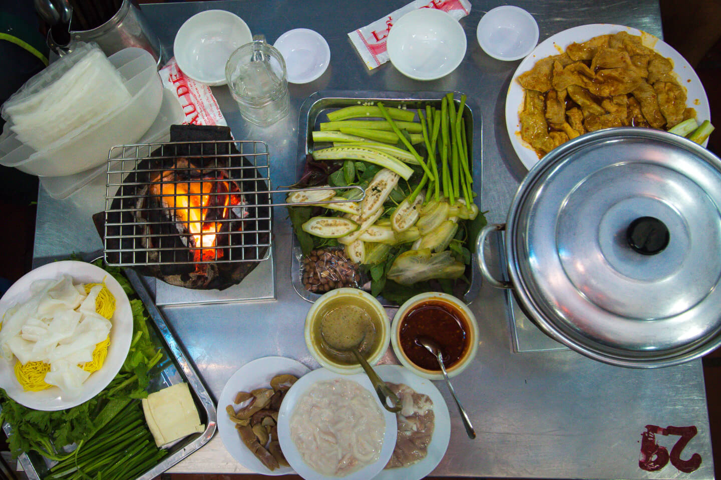
[[[310,369],[303,363],[291,358],[264,357],[246,363],[228,379],[221,392],[221,396],[218,398],[218,433],[221,435],[223,444],[228,452],[242,466],[257,474],[263,475],[295,473],[290,466],[283,466],[280,465],[277,460],[274,461],[275,455],[277,455],[278,452],[274,451],[270,444],[275,442],[275,445],[278,443],[275,425],[267,429],[268,431],[266,433],[268,435],[265,442],[255,438],[255,434],[251,434],[251,432],[252,428],[257,427],[257,425],[264,426],[264,424],[270,425],[275,423],[270,421],[270,419],[273,419],[272,413],[270,419],[267,418],[266,414],[275,412],[277,415],[280,405],[276,403],[282,402],[282,397],[280,398],[280,402],[275,402],[272,396],[270,399],[267,399],[264,393],[268,394],[270,392],[264,392],[262,390],[270,389],[273,392],[282,391],[284,395],[293,384],[293,379],[291,379],[290,376],[299,379],[309,371]],[[257,409],[255,412],[251,410],[254,406],[257,407],[261,404],[263,405],[261,409]],[[249,425],[246,425],[251,429],[249,437],[250,440],[253,440],[252,442],[249,440],[247,443],[252,443],[256,450],[255,453],[249,450],[247,443],[242,440],[242,434],[238,427],[236,427],[236,425],[239,425],[237,421],[239,419],[236,418],[236,421],[231,419],[228,406],[237,413],[238,417],[244,417],[244,413],[257,414],[250,415]],[[234,415],[234,417],[235,416],[236,415]],[[277,421],[277,416],[275,417],[275,421]],[[276,446],[280,448],[280,445]],[[273,455],[271,455],[270,452],[273,452]]]

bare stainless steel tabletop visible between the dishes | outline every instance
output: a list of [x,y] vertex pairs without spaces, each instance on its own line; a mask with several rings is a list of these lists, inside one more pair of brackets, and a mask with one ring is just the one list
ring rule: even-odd
[[[268,42],[296,27],[320,32],[331,49],[328,71],[309,85],[291,85],[291,113],[270,128],[243,121],[226,87],[214,87],[218,104],[236,139],[265,140],[270,145],[275,186],[292,183],[296,171],[298,109],[314,91],[437,90],[464,91],[481,106],[483,127],[481,208],[489,222],[502,222],[519,181],[526,173],[505,130],[505,92],[518,62],[494,60],[475,39],[482,15],[499,2],[472,1],[471,14],[461,20],[468,50],[461,66],[438,81],[413,81],[390,63],[366,70],[348,32],[399,8],[407,0],[335,2],[252,0],[148,4],[143,12],[172,53],[174,33],[188,17],[205,9],[239,14],[254,33]],[[526,0],[513,1],[536,17],[540,40],[580,24],[627,24],[662,34],[658,3],[652,0]],[[342,6],[342,9],[339,9]],[[69,253],[102,248],[91,214],[104,207],[105,178],[62,201],[40,189],[35,235],[35,266]],[[303,340],[304,316],[310,305],[291,286],[291,229],[276,209],[274,248],[277,299],[195,307],[167,307],[169,325],[185,345],[208,389],[216,397],[244,363],[263,356],[296,358],[311,368]],[[588,479],[661,479],[678,476],[712,479],[713,463],[702,366],[700,361],[673,368],[629,370],[591,361],[570,350],[514,353],[502,291],[484,284],[472,309],[479,320],[480,341],[471,368],[456,378],[459,397],[469,409],[478,438],[466,438],[456,409],[451,409],[451,443],[435,469],[441,476],[493,476]],[[520,312],[517,312],[520,314]],[[394,362],[392,353],[384,362]],[[446,400],[446,386],[438,384]],[[221,409],[222,411],[222,409]],[[698,433],[681,459],[702,457],[691,474],[668,463],[660,471],[639,467],[646,425],[695,426]],[[657,435],[669,452],[677,436]],[[672,455],[673,456],[673,455]],[[211,443],[172,468],[175,472],[245,472],[224,449]]]

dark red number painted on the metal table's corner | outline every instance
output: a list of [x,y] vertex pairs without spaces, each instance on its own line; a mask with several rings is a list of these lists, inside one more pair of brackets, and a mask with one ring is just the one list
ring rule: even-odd
[[[646,471],[658,471],[671,460],[671,465],[690,474],[701,465],[701,456],[694,453],[689,460],[681,460],[681,452],[696,433],[697,430],[694,426],[661,428],[656,425],[646,425],[646,431],[641,434],[641,454],[638,458],[638,466]],[[671,454],[669,454],[665,447],[658,445],[656,435],[679,435],[681,438],[673,445]]]

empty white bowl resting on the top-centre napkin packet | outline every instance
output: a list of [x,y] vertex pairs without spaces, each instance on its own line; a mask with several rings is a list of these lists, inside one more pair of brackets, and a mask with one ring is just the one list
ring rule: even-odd
[[386,39],[391,63],[415,80],[436,80],[456,70],[466,55],[466,33],[451,15],[438,9],[408,12]]

